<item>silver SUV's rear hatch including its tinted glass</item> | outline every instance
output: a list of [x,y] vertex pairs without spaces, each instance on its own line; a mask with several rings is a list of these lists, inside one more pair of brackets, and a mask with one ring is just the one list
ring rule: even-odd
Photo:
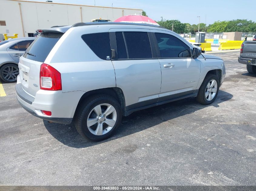
[[62,37],[63,33],[41,33],[28,47],[19,61],[19,73],[22,88],[32,96],[40,90],[40,66]]

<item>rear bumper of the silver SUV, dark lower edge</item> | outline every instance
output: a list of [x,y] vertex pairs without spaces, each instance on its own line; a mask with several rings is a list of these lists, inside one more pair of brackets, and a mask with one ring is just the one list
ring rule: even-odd
[[[32,115],[54,123],[70,124],[83,91],[45,91],[39,90],[35,97],[23,90],[21,83],[16,85],[17,100]],[[47,116],[41,110],[51,111]]]

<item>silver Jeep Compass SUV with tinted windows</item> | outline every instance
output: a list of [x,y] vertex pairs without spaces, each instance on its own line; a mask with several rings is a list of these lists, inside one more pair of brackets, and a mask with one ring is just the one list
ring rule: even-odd
[[155,25],[78,23],[37,32],[20,57],[18,102],[42,119],[74,121],[93,141],[138,110],[187,97],[211,104],[225,77],[221,58]]

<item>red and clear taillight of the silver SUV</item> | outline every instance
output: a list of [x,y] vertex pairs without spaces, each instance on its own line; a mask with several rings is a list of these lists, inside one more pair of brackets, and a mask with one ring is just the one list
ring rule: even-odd
[[40,67],[40,89],[62,90],[61,73],[52,66],[42,63]]

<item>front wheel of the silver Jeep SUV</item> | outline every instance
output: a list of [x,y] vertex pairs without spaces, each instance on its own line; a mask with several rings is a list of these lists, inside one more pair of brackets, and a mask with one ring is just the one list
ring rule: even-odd
[[197,101],[203,105],[209,105],[216,99],[219,92],[220,82],[216,75],[208,74],[199,88]]

